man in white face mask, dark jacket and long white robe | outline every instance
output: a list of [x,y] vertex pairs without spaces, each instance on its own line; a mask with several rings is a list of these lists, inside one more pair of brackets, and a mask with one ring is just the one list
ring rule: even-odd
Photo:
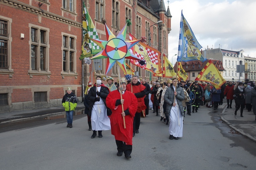
[[101,77],[96,77],[96,83],[90,88],[88,98],[90,100],[90,107],[88,116],[91,116],[91,126],[93,134],[91,138],[98,135],[102,138],[102,130],[110,130],[110,120],[107,116],[106,98],[109,94],[109,89],[101,83]]

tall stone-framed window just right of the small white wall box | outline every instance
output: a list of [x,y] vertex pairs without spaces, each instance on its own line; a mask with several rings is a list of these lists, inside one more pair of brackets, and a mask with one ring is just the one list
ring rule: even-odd
[[30,27],[30,70],[29,74],[50,74],[49,28],[29,24]]

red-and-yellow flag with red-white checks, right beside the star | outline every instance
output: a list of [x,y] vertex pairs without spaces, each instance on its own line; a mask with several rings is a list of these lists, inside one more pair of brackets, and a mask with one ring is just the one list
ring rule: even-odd
[[[132,34],[130,34],[130,41],[137,40]],[[151,71],[154,74],[161,74],[163,73],[161,67],[161,53],[160,51],[139,42],[135,46],[130,49],[131,53],[133,53],[136,57],[140,58],[141,60],[145,60],[144,65],[141,65],[137,60],[131,60],[131,63],[139,66],[145,70]]]

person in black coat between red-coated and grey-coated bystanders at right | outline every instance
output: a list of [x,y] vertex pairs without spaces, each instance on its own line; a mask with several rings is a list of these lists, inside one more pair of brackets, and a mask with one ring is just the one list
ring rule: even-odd
[[235,103],[236,103],[235,115],[237,115],[237,111],[241,107],[241,110],[240,110],[240,116],[241,117],[244,117],[243,116],[243,111],[244,111],[244,108],[245,108],[244,92],[245,92],[245,89],[244,89],[243,83],[239,82],[238,86],[237,86],[237,88],[236,88],[236,90],[234,92],[234,94],[236,95],[236,99],[235,99]]

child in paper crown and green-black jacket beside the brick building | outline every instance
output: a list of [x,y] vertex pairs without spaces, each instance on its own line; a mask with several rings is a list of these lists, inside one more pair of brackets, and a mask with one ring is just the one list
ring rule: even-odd
[[62,98],[62,105],[66,111],[66,117],[68,125],[67,127],[72,128],[73,125],[73,112],[77,106],[77,98],[76,95],[72,92],[72,88],[67,88],[67,93]]

